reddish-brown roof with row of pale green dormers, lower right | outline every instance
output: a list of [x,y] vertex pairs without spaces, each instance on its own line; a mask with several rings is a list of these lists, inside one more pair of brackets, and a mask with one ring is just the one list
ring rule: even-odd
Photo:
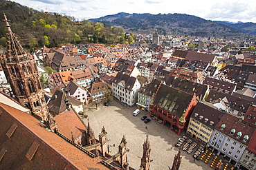
[[[221,125],[225,124],[226,127],[221,130]],[[244,120],[241,120],[241,118],[237,118],[236,116],[233,116],[232,114],[225,113],[223,114],[221,120],[215,127],[218,131],[221,131],[221,133],[226,134],[227,136],[230,136],[231,138],[234,138],[235,140],[238,140],[241,143],[244,143],[245,145],[248,145],[250,140],[253,137],[253,133],[255,131],[256,126],[253,123],[248,123]],[[231,135],[230,131],[232,129],[235,129],[235,134]],[[241,137],[236,138],[237,133],[241,131]],[[248,135],[249,139],[244,142],[243,138],[244,136]]]

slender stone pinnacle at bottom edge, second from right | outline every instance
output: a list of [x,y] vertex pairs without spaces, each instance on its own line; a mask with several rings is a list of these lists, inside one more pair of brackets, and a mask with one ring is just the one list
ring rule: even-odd
[[143,157],[141,158],[140,169],[149,170],[150,151],[151,149],[150,149],[150,143],[149,143],[149,136],[147,135],[147,138],[143,144]]

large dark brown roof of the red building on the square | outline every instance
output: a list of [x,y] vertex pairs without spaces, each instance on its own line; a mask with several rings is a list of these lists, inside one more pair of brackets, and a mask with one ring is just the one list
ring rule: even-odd
[[190,105],[192,98],[192,94],[182,92],[167,85],[161,85],[154,98],[154,105],[158,105],[172,114],[181,117],[183,111]]

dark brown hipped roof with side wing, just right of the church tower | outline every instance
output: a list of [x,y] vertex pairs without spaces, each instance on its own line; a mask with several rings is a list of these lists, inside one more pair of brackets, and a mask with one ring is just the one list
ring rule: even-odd
[[69,102],[72,105],[82,105],[82,102],[80,102],[80,100],[77,100],[72,96],[65,96],[65,93],[62,92],[62,90],[57,89],[51,97],[51,100],[47,104],[49,110],[55,114],[61,114],[62,112],[64,112],[66,110],[66,104],[64,103],[65,97],[68,98]]

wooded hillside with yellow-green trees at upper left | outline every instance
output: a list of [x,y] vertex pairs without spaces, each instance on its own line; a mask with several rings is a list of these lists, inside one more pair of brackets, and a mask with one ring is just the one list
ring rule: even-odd
[[[57,13],[39,12],[12,1],[0,0],[0,11],[10,20],[21,45],[33,48],[60,47],[69,43],[125,43],[131,37],[122,28],[107,27],[92,21],[75,22],[74,17]],[[6,28],[0,14],[0,46],[6,45]],[[131,34],[133,35],[133,34]]]

